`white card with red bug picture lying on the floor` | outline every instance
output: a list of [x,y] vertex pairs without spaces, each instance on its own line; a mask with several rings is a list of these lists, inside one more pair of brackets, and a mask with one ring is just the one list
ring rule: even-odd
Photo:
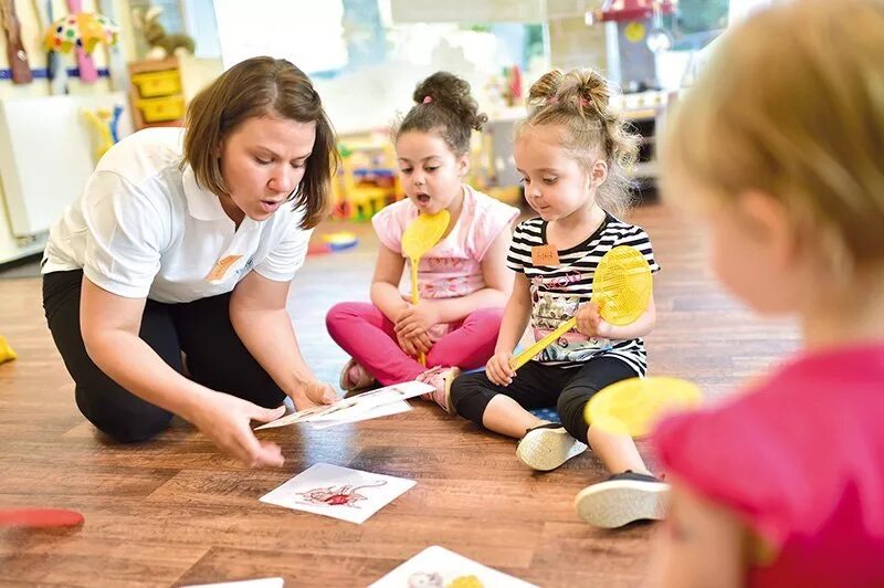
[[260,500],[362,524],[414,484],[413,480],[317,463]]

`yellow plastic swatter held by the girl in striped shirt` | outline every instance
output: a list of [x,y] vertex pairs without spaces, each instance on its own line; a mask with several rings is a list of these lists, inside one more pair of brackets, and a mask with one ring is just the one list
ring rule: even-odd
[[[630,245],[618,245],[599,260],[592,276],[591,302],[598,303],[599,314],[612,325],[634,323],[648,309],[653,283],[651,266],[642,253]],[[557,329],[509,360],[518,369],[559,337],[571,330],[577,318],[570,318]]]

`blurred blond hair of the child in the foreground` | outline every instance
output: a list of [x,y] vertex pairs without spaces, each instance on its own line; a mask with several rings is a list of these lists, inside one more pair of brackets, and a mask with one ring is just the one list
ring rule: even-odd
[[715,50],[678,105],[667,169],[719,201],[776,198],[842,279],[882,264],[884,2],[775,6]]

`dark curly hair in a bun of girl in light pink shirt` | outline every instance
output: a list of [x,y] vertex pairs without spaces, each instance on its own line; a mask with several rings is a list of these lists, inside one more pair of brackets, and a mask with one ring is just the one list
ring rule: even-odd
[[439,133],[449,149],[461,156],[470,150],[473,129],[482,130],[488,117],[478,112],[470,94],[470,84],[449,72],[436,72],[414,88],[414,106],[393,128],[393,137],[403,133]]

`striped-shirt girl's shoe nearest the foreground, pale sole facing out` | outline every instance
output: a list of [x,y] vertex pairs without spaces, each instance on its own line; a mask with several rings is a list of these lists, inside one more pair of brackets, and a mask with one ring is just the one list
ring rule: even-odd
[[670,485],[649,474],[627,470],[581,490],[575,498],[580,518],[602,528],[666,517]]

